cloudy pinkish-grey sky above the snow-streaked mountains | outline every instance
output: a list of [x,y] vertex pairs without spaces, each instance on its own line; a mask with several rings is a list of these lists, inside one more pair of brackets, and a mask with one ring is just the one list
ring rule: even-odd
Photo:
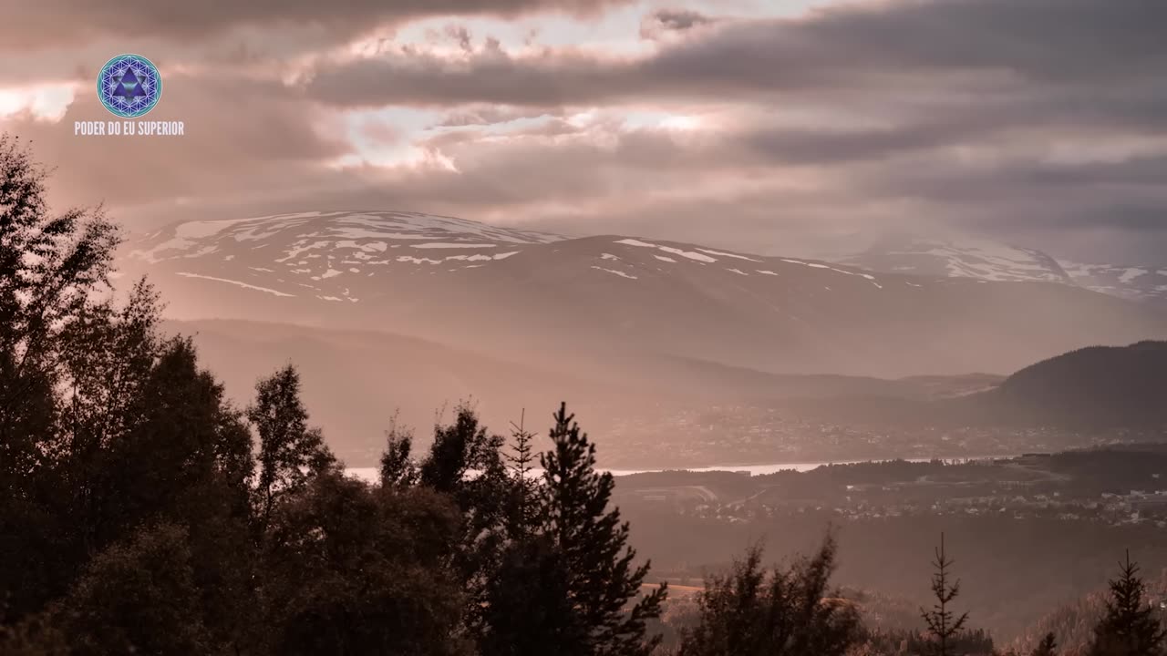
[[[0,0],[0,132],[131,230],[397,209],[767,254],[1167,263],[1161,0]],[[123,53],[180,138],[113,118]]]

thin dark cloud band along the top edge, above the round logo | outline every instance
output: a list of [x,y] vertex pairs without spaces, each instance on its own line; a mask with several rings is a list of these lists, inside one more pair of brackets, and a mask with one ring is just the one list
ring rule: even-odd
[[594,15],[627,0],[40,0],[6,2],[0,21],[0,50],[104,39],[167,37],[200,40],[233,28],[278,29],[314,26],[351,35],[379,23],[434,15],[515,16],[561,11]]

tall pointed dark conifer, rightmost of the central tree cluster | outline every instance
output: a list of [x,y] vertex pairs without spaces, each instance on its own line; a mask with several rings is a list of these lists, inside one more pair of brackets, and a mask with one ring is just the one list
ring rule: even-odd
[[614,480],[595,470],[595,445],[561,404],[551,430],[552,448],[539,458],[544,469],[539,495],[541,531],[562,559],[571,600],[571,621],[580,633],[582,654],[647,655],[659,636],[645,638],[645,622],[661,615],[666,586],[641,594],[649,563],[634,566],[628,523],[608,510]]

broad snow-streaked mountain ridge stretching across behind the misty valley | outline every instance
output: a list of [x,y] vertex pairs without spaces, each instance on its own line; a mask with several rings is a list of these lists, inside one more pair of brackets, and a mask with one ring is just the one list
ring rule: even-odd
[[767,374],[1007,372],[1167,335],[1163,313],[1063,284],[411,212],[183,223],[128,244],[120,268],[148,274],[173,319],[386,332],[550,370],[672,357]]

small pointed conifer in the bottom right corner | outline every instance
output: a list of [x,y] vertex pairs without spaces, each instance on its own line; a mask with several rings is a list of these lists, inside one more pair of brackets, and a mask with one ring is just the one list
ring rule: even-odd
[[1160,656],[1165,652],[1162,629],[1154,609],[1144,600],[1146,585],[1131,552],[1119,564],[1119,577],[1110,581],[1106,614],[1095,626],[1089,656]]

